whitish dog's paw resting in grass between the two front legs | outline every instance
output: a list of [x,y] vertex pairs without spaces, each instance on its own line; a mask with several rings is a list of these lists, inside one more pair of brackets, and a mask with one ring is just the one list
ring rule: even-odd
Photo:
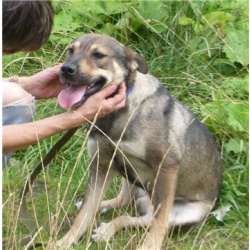
[[114,236],[115,232],[115,227],[111,222],[102,222],[98,228],[93,230],[91,238],[96,242],[107,242]]

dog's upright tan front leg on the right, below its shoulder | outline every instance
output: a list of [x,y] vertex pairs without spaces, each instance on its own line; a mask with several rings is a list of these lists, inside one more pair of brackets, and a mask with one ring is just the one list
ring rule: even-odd
[[154,197],[154,218],[140,250],[159,250],[161,249],[164,236],[168,229],[168,217],[170,215],[175,196],[178,166],[168,166],[159,170]]

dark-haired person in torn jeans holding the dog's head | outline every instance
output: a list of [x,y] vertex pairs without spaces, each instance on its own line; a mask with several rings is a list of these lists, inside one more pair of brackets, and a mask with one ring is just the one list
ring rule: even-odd
[[[51,1],[3,1],[3,54],[39,49],[49,38],[54,11]],[[65,87],[59,80],[61,65],[32,76],[10,77],[2,82],[2,164],[14,151],[78,127],[88,120],[124,107],[126,86],[109,85],[90,96],[74,111],[34,121],[35,99],[56,97]],[[114,96],[114,92],[117,92]],[[110,96],[113,97],[110,97]]]

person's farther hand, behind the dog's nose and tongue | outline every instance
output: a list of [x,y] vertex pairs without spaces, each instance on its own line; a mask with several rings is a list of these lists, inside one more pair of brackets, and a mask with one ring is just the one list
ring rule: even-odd
[[56,97],[66,86],[60,82],[61,64],[47,68],[33,76],[20,77],[18,84],[37,99]]

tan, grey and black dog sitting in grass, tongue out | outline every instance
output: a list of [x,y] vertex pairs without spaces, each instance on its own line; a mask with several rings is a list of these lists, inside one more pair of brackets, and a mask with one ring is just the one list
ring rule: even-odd
[[[122,81],[127,98],[125,108],[98,119],[90,132],[92,161],[85,198],[56,246],[77,243],[98,210],[119,208],[132,199],[139,216],[101,223],[92,239],[108,241],[121,228],[143,226],[149,232],[137,249],[160,249],[169,228],[205,220],[222,184],[217,144],[206,126],[148,73],[142,56],[109,36],[83,35],[69,45],[60,79],[68,85],[59,95],[64,108],[80,103],[82,95]],[[120,194],[103,201],[118,175],[123,176]]]

